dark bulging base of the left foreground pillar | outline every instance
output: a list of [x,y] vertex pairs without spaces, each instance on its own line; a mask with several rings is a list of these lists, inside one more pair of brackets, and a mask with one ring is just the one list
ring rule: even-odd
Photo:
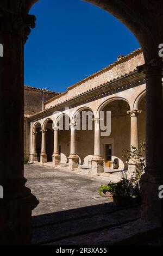
[[25,187],[26,179],[1,182],[4,198],[0,200],[0,244],[28,245],[32,242],[32,210],[39,201]]

